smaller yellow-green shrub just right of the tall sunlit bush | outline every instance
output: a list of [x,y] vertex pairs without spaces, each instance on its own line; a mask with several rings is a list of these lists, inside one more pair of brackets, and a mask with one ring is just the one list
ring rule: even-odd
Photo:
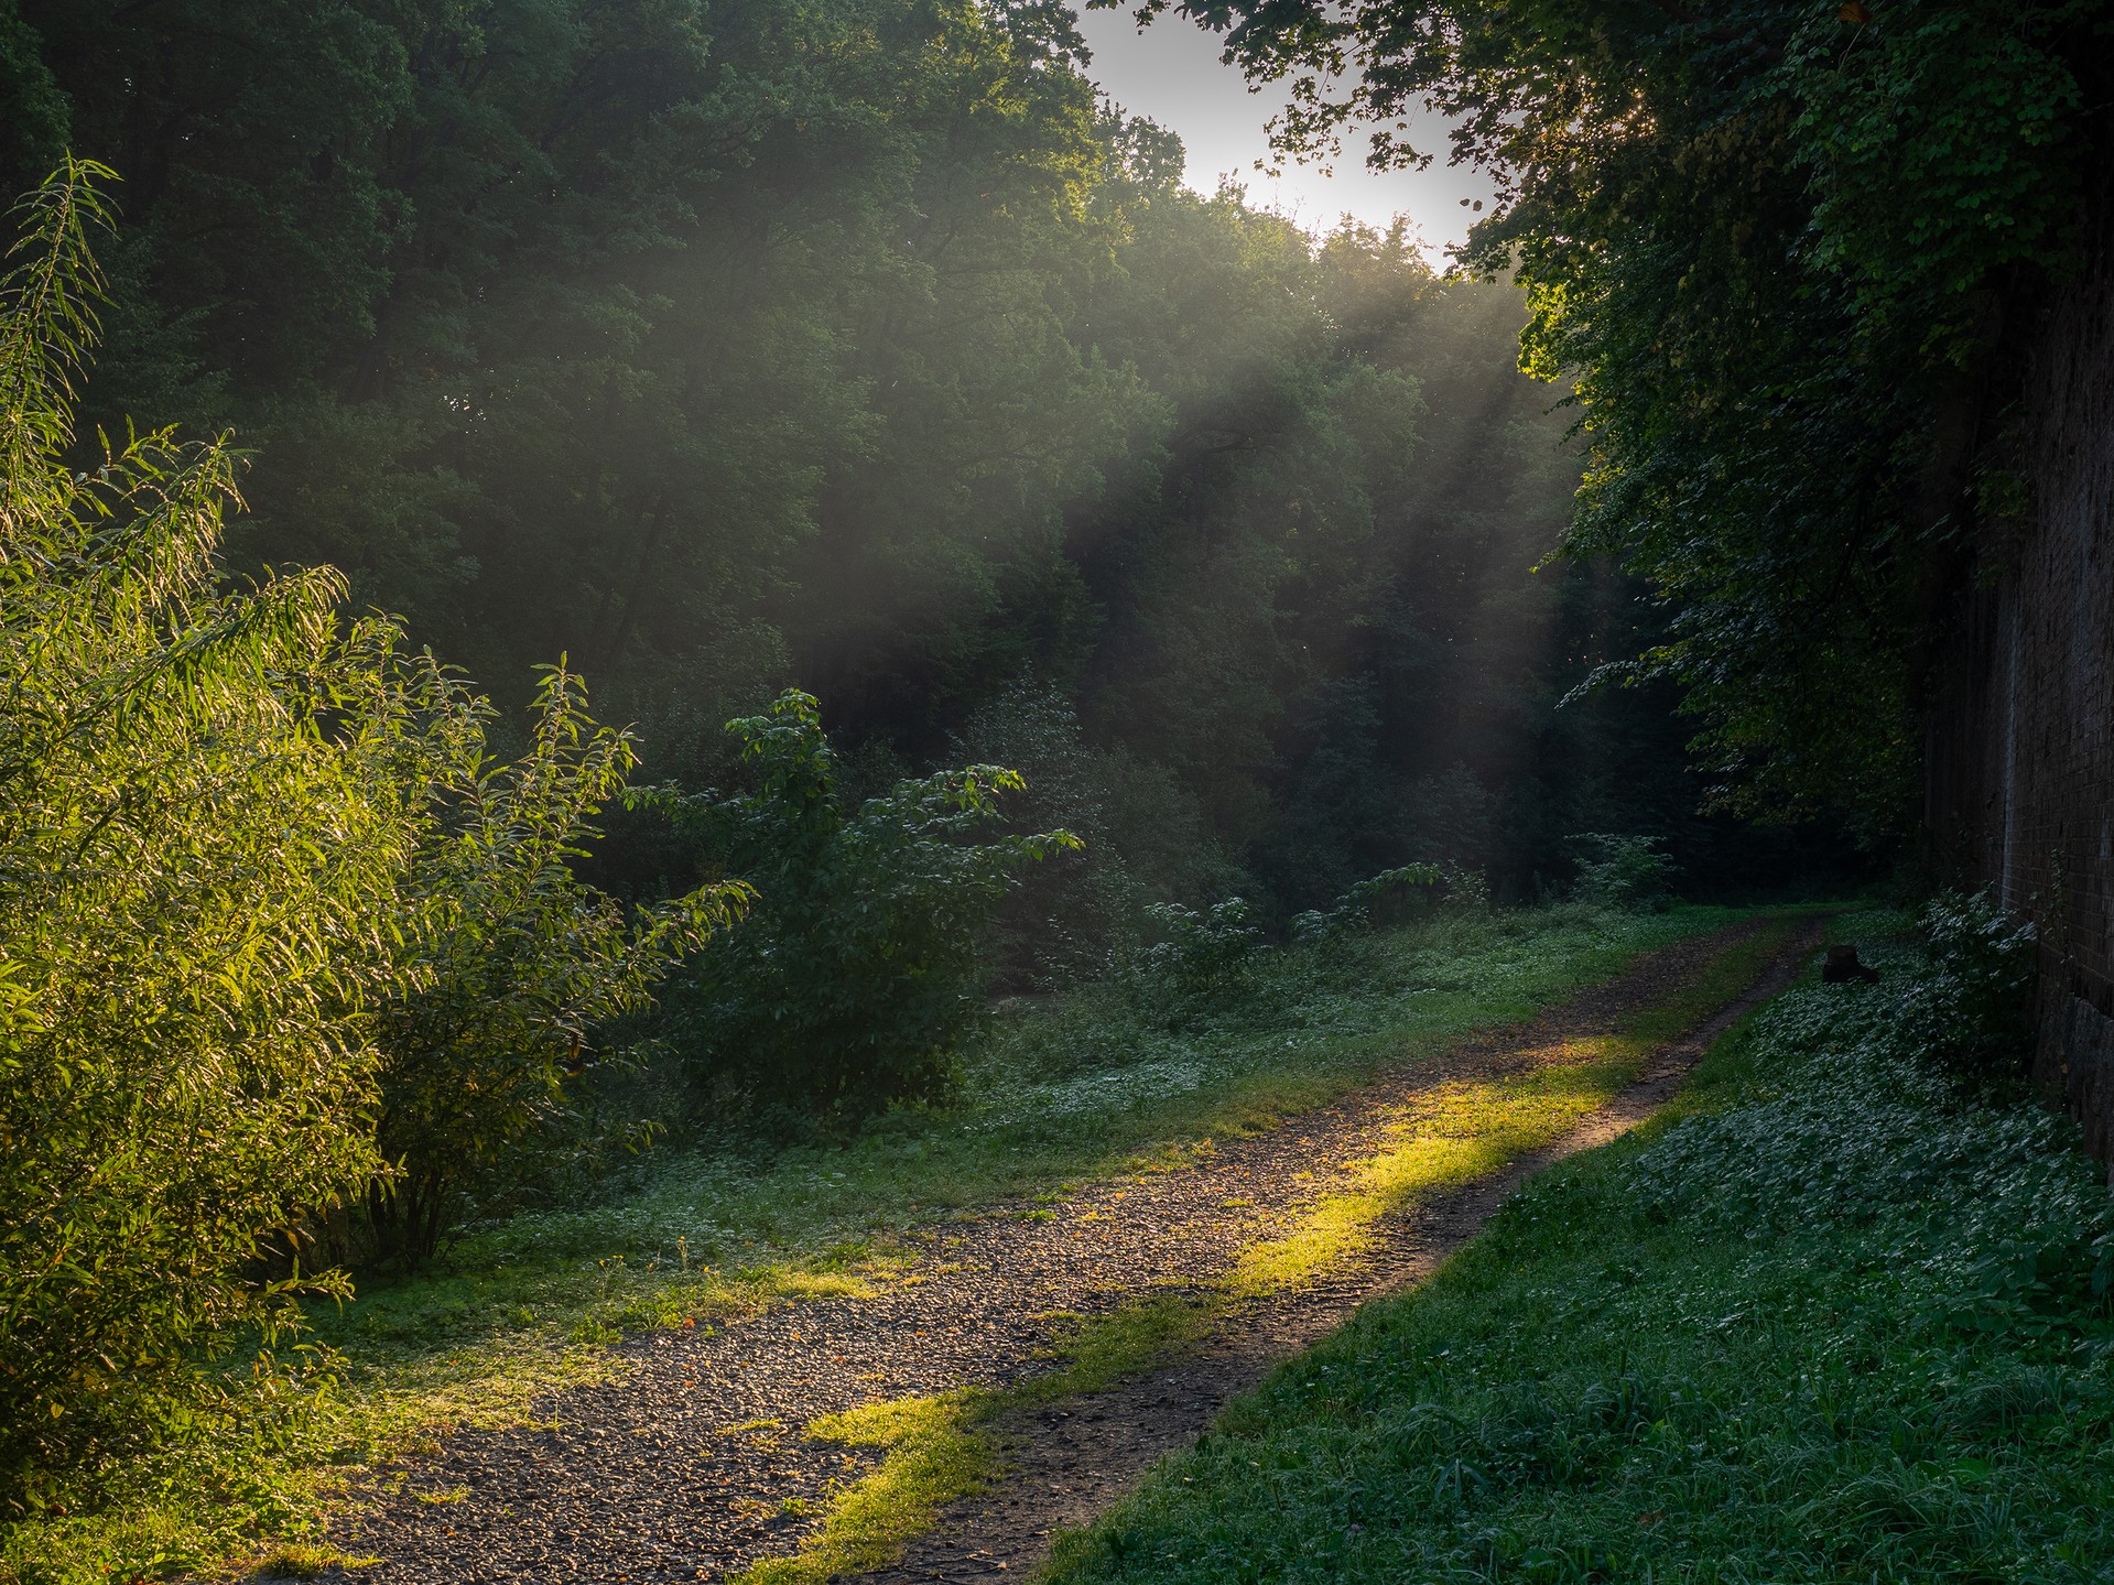
[[[493,706],[423,657],[406,668],[423,750],[402,888],[397,972],[376,1006],[378,1141],[391,1162],[366,1198],[385,1253],[429,1255],[480,1181],[567,1112],[600,1025],[748,900],[734,881],[628,917],[571,871],[594,818],[636,765],[596,727],[564,666],[543,672],[535,733],[512,765],[484,754]],[[622,1052],[617,1052],[622,1057]]]

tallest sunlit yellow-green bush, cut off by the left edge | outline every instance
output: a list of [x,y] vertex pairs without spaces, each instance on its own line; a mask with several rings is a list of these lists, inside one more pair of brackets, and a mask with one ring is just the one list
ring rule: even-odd
[[63,461],[101,175],[25,207],[0,302],[0,1503],[184,1424],[197,1348],[342,1287],[254,1266],[381,1169],[361,1004],[410,856],[340,579],[216,592],[233,452]]

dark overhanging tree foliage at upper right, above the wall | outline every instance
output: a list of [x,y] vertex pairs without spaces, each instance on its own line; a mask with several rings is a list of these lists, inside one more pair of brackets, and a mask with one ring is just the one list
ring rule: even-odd
[[1619,674],[1679,678],[1723,803],[1898,828],[1934,594],[2021,499],[2004,355],[2078,239],[2108,6],[1177,8],[1298,74],[1294,139],[1372,118],[1406,161],[1399,116],[1452,118],[1499,178],[1467,260],[1592,435],[1569,545],[1672,607]]

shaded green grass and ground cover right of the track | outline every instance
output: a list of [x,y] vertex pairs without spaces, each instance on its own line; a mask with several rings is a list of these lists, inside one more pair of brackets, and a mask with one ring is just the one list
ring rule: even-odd
[[1687,1118],[1531,1183],[1053,1579],[2106,1579],[2114,1207],[1979,1044],[2015,938],[1930,924],[1750,1017]]

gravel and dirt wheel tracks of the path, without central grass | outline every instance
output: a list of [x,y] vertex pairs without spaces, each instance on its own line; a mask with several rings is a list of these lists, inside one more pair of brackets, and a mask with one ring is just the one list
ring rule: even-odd
[[[556,1395],[539,1424],[452,1435],[378,1481],[340,1536],[374,1564],[332,1574],[374,1585],[717,1581],[786,1558],[814,1543],[831,1496],[882,1462],[875,1448],[805,1435],[812,1422],[1032,1382],[1080,1317],[1106,1319],[1150,1293],[1228,1291],[1243,1255],[1355,1194],[1359,1173],[1404,1137],[1446,1135],[1444,1105],[1463,1086],[1560,1080],[1581,1050],[1691,987],[1761,928],[1647,953],[1531,1025],[1463,1040],[1175,1167],[909,1234],[909,1255],[875,1264],[863,1295],[628,1340],[626,1369]],[[1427,1274],[1526,1175],[1647,1118],[1725,1025],[1791,981],[1816,930],[1797,930],[1759,983],[1657,1046],[1634,1084],[1590,1103],[1552,1141],[1391,1207],[1300,1281],[1249,1285],[1180,1357],[1108,1391],[998,1416],[983,1437],[1006,1454],[1002,1477],[953,1503],[875,1579],[1019,1579],[1057,1528],[1106,1509],[1357,1304]]]

